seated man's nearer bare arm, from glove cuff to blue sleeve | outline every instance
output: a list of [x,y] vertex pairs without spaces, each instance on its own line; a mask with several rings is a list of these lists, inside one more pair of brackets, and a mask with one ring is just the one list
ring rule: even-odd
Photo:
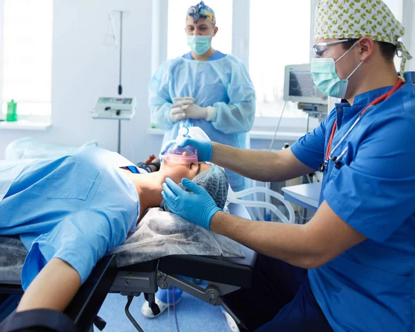
[[343,221],[326,201],[304,225],[250,221],[216,212],[210,220],[210,229],[302,268],[318,268],[367,239]]

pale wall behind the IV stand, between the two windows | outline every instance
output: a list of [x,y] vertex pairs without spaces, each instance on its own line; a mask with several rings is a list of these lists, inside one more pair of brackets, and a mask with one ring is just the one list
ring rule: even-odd
[[138,100],[138,113],[122,122],[121,152],[132,161],[160,149],[161,137],[147,135],[147,83],[151,71],[151,1],[59,0],[53,8],[52,127],[48,131],[0,131],[0,158],[6,145],[31,136],[42,142],[82,145],[98,140],[116,151],[118,122],[92,120],[98,96],[116,95],[118,49],[102,44],[111,10],[129,10],[124,19],[123,95]]

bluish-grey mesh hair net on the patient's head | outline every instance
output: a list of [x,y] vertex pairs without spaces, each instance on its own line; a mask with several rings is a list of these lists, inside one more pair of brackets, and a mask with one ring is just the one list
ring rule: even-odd
[[[201,172],[201,174],[196,175],[192,181],[196,183],[196,185],[200,185],[205,188],[219,209],[223,209],[225,207],[226,199],[228,197],[229,180],[225,170],[222,167],[213,165],[210,169],[205,170],[205,172]],[[180,185],[187,192],[189,191],[183,187],[181,183],[178,185]],[[169,211],[169,208],[165,205],[164,199],[161,202],[160,207],[166,211]]]

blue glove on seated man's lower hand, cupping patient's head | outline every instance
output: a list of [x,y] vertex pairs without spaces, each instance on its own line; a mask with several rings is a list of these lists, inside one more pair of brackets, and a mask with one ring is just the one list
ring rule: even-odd
[[183,178],[181,183],[193,194],[183,190],[171,178],[166,178],[161,196],[165,199],[167,207],[174,214],[210,230],[210,219],[221,209],[201,186],[196,185],[188,178]]

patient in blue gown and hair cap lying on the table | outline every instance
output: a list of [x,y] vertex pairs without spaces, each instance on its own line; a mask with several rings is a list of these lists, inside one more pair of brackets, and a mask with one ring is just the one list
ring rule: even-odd
[[29,250],[17,311],[64,311],[108,252],[120,246],[145,210],[163,205],[165,178],[197,179],[223,208],[228,179],[206,163],[163,162],[158,172],[134,174],[119,154],[87,147],[26,166],[0,202],[0,235],[19,234]]

